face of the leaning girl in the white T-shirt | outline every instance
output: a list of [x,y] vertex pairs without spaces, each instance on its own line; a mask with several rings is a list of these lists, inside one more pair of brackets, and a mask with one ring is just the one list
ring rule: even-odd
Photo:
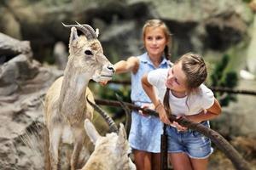
[[182,69],[182,62],[173,65],[168,71],[166,87],[170,88],[173,94],[184,95],[187,93],[187,77]]

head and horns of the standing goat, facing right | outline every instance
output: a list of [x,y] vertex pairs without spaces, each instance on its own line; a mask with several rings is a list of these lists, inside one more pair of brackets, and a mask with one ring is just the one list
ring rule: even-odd
[[[63,23],[62,23],[63,24]],[[65,25],[71,27],[69,38],[68,67],[75,68],[78,74],[85,74],[95,82],[105,82],[113,77],[113,65],[103,54],[102,44],[97,39],[97,32],[89,25]],[[78,31],[83,34],[78,35]],[[72,61],[72,62],[70,62]]]

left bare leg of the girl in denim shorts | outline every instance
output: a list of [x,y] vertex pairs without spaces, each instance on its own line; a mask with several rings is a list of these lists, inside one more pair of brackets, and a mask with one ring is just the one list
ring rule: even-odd
[[174,170],[193,170],[189,156],[185,153],[169,154]]

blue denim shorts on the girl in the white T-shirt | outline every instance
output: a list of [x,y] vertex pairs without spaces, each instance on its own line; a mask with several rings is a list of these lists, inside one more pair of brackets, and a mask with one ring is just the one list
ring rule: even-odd
[[[202,125],[209,127],[209,122],[201,122]],[[189,157],[204,159],[212,154],[211,140],[203,134],[193,130],[178,132],[176,127],[168,126],[168,152],[184,152]]]

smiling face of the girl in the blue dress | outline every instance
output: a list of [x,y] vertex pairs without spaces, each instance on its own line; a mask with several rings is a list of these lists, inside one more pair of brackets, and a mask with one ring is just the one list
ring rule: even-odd
[[160,26],[148,26],[143,38],[145,48],[150,57],[160,57],[163,54],[168,40]]

